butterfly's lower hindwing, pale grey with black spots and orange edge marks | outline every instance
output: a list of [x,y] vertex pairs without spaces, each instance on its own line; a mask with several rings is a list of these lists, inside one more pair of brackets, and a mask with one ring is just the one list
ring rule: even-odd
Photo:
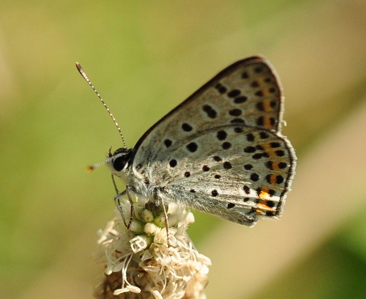
[[174,201],[241,223],[281,215],[290,173],[285,140],[227,125],[183,140],[152,175]]

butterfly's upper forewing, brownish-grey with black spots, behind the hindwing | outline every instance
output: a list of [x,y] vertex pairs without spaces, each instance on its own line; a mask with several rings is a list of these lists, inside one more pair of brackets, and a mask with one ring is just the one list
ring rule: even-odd
[[150,128],[135,146],[142,148],[135,164],[154,161],[187,134],[212,127],[241,124],[277,131],[281,104],[280,85],[268,63],[259,57],[239,60]]

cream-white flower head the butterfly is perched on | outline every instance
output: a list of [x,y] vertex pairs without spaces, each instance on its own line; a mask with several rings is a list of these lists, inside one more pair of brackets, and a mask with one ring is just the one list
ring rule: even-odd
[[[143,206],[141,202],[135,206],[131,230],[117,211],[107,227],[98,232],[95,258],[103,265],[106,277],[95,290],[95,298],[204,299],[211,261],[197,252],[186,234],[194,221],[192,213],[174,204],[169,206],[168,247],[161,208]],[[124,210],[129,208],[125,206]]]

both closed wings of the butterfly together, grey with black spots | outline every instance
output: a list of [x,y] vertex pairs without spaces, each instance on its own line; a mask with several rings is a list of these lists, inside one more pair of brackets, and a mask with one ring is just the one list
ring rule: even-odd
[[278,217],[296,159],[280,133],[282,104],[265,59],[237,61],[147,131],[134,171],[168,200],[233,222]]

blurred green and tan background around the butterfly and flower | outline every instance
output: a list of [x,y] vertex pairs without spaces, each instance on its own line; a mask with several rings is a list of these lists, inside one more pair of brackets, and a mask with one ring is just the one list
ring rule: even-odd
[[91,298],[106,167],[233,61],[262,54],[298,154],[280,221],[195,213],[207,298],[366,298],[366,1],[2,1],[0,298]]

